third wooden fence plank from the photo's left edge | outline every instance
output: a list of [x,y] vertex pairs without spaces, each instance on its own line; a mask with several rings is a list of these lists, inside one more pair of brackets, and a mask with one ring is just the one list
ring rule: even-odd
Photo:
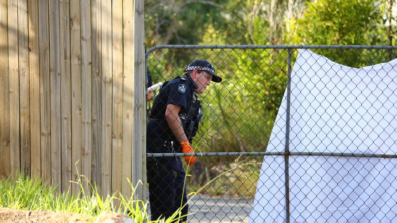
[[21,129],[21,172],[31,174],[30,162],[30,88],[29,88],[29,33],[27,1],[18,1],[18,55],[19,55],[19,128]]

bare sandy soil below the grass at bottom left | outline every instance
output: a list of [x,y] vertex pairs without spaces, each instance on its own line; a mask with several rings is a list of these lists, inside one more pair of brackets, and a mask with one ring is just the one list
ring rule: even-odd
[[86,223],[93,222],[95,218],[90,215],[73,213],[56,213],[53,211],[23,211],[0,207],[0,223]]

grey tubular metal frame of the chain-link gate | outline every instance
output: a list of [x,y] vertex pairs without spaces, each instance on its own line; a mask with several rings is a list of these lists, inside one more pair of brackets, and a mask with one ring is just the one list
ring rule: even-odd
[[[286,137],[285,152],[199,152],[199,153],[146,153],[146,157],[182,157],[182,156],[284,156],[285,159],[285,201],[287,223],[290,222],[289,208],[289,156],[336,156],[336,157],[367,157],[367,158],[397,158],[397,154],[358,154],[358,153],[331,153],[331,152],[289,152],[289,128],[291,106],[291,71],[292,49],[377,49],[397,50],[397,46],[373,46],[373,45],[156,45],[145,54],[145,65],[148,56],[158,49],[288,49],[287,70],[287,113],[286,113]],[[146,73],[145,73],[146,76]],[[146,76],[146,85],[147,85]],[[146,91],[147,94],[147,91]],[[146,168],[143,165],[143,168]]]

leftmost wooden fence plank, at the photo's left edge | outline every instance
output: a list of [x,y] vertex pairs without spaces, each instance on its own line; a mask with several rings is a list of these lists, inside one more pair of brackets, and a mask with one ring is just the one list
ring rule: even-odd
[[11,174],[7,2],[0,3],[0,179]]

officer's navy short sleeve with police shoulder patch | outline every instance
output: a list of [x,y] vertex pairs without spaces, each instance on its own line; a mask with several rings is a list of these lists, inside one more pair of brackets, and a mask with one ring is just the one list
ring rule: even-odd
[[[185,92],[183,92],[184,88]],[[179,104],[183,108],[186,108],[189,92],[190,86],[186,82],[176,81],[174,83],[170,83],[170,88],[168,88],[167,104]]]

